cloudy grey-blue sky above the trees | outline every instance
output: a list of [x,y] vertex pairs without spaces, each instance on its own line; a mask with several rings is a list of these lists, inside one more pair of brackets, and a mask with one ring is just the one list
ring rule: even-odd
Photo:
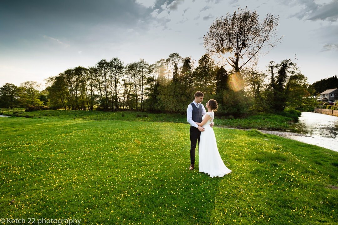
[[291,59],[309,84],[338,75],[338,0],[1,0],[0,86],[44,88],[66,69],[114,57],[151,64],[176,52],[197,62],[211,23],[239,7],[280,17],[283,37],[262,49],[258,71]]

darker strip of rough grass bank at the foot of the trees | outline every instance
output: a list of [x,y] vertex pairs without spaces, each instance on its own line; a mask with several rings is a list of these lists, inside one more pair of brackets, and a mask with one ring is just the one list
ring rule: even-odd
[[[77,118],[84,120],[123,120],[123,121],[152,121],[152,122],[179,122],[187,123],[186,115],[146,113],[146,112],[101,112],[101,111],[65,111],[46,110],[25,112],[24,109],[0,109],[0,114],[21,117],[57,117]],[[241,119],[220,119],[216,116],[216,126],[229,128],[244,128],[258,130],[290,130],[290,117],[261,113]]]

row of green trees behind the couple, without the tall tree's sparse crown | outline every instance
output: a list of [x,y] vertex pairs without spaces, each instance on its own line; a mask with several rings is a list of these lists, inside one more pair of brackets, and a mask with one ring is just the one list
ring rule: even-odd
[[43,91],[34,81],[20,87],[6,83],[0,88],[0,107],[184,114],[197,90],[220,103],[219,115],[305,110],[314,104],[307,98],[306,77],[290,59],[270,62],[265,72],[243,69],[240,79],[245,85],[236,91],[232,87],[234,71],[217,66],[209,54],[204,54],[195,68],[191,57],[178,53],[154,64],[143,59],[126,65],[119,58],[102,59],[93,67],[78,66],[48,78]]

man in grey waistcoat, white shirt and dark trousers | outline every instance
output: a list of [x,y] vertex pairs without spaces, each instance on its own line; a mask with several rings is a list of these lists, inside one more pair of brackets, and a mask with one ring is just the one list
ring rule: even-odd
[[[190,170],[195,168],[195,149],[196,141],[198,141],[199,147],[199,137],[201,132],[204,131],[202,126],[197,125],[195,122],[202,122],[202,116],[205,115],[206,109],[201,104],[203,101],[204,94],[200,91],[196,91],[195,100],[188,105],[187,108],[187,120],[190,123]],[[210,124],[212,127],[214,123]]]

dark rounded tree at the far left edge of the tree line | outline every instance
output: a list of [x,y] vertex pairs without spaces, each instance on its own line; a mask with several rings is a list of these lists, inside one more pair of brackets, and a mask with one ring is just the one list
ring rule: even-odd
[[0,87],[0,108],[14,108],[18,106],[18,87],[5,83]]

